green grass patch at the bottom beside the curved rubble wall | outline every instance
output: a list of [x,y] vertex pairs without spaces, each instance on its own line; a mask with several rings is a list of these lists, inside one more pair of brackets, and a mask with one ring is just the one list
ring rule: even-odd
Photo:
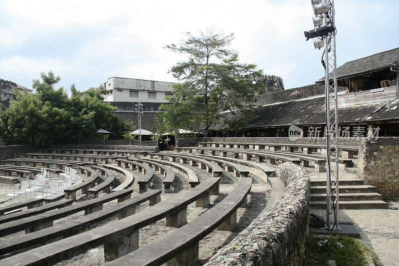
[[[320,241],[328,240],[328,244],[321,247]],[[341,247],[341,243],[344,247]],[[346,236],[319,236],[309,234],[306,239],[305,258],[303,266],[325,265],[334,260],[337,265],[363,266],[365,260],[378,263],[377,254],[362,241]]]

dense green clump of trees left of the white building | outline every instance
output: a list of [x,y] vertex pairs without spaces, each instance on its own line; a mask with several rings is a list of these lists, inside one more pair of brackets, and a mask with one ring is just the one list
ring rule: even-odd
[[7,144],[27,143],[38,139],[40,143],[94,137],[96,130],[105,128],[113,134],[132,129],[132,125],[112,112],[115,107],[102,102],[105,90],[90,88],[83,96],[70,87],[71,98],[55,84],[60,81],[53,72],[41,73],[41,81],[33,80],[36,93],[14,91],[16,99],[0,113],[0,138]]

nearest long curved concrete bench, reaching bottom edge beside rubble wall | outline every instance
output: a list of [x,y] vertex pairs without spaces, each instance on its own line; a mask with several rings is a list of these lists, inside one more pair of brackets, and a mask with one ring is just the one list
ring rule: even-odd
[[[246,206],[252,179],[241,178],[226,198],[189,224],[128,255],[108,263],[119,265],[193,265],[198,261],[199,242],[216,228],[232,231],[236,224],[237,209]],[[244,207],[243,206],[243,207]]]

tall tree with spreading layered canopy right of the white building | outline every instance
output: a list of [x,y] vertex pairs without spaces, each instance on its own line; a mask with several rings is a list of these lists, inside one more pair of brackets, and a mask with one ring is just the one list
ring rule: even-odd
[[166,46],[189,56],[170,70],[182,82],[174,85],[171,102],[189,102],[207,134],[208,128],[219,122],[220,112],[253,106],[261,84],[252,84],[252,78],[263,75],[263,71],[256,70],[255,64],[238,62],[238,53],[227,48],[233,33],[207,28],[198,36],[187,32],[186,37],[179,45]]

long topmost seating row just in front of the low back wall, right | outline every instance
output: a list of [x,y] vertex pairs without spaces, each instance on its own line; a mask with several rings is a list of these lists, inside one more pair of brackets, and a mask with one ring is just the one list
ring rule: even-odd
[[[233,142],[199,142],[199,147],[210,148],[241,148],[241,149],[254,149],[254,150],[270,150],[270,151],[289,151],[310,154],[314,150],[322,155],[327,154],[325,145],[317,144],[293,144],[293,143],[233,143]],[[342,157],[344,159],[352,159],[354,154],[357,154],[359,147],[356,146],[340,146]]]

